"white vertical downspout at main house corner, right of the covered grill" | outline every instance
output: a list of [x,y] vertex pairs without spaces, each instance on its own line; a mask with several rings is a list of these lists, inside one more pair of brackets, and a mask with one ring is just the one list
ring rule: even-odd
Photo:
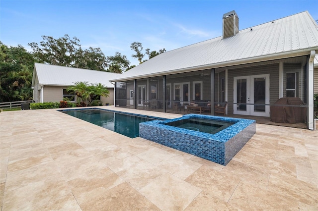
[[308,129],[314,130],[314,58],[316,51],[310,52],[308,59]]

